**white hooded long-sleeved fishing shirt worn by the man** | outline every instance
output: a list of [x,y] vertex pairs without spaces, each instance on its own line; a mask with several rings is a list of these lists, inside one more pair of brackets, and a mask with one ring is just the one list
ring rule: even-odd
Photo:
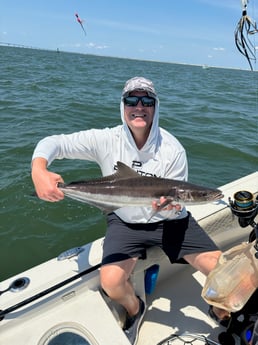
[[[114,174],[117,161],[121,161],[141,176],[187,181],[187,157],[183,146],[173,135],[158,125],[158,98],[156,97],[155,114],[149,137],[140,150],[125,122],[122,99],[120,112],[122,125],[53,135],[42,139],[37,144],[32,159],[45,158],[48,166],[53,160],[64,158],[94,161],[100,166],[103,176]],[[160,211],[150,219],[153,214],[151,205],[150,207],[122,207],[114,212],[127,223],[158,222],[165,219],[184,218],[187,214],[183,207],[179,214],[174,209]]]

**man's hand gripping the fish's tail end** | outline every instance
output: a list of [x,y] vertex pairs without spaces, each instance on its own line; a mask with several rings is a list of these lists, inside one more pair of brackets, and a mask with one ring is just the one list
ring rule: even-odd
[[57,188],[58,182],[64,182],[61,175],[47,170],[47,161],[44,158],[35,158],[32,161],[31,177],[37,196],[45,201],[56,202],[64,199],[64,193]]

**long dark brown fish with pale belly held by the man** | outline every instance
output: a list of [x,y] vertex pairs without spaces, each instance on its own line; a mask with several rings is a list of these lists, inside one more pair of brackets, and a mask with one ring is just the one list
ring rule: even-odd
[[152,201],[165,197],[151,218],[170,203],[200,204],[223,198],[219,189],[198,186],[168,178],[141,176],[118,161],[117,171],[101,178],[58,183],[65,196],[111,213],[122,207],[151,207]]

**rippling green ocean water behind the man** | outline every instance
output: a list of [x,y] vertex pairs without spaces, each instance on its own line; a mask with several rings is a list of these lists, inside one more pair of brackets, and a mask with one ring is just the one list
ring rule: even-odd
[[[184,145],[189,181],[219,187],[258,168],[258,74],[0,46],[0,281],[105,234],[105,217],[72,200],[34,196],[31,155],[43,137],[120,123],[124,82],[150,78],[160,125]],[[65,181],[100,175],[62,160]]]

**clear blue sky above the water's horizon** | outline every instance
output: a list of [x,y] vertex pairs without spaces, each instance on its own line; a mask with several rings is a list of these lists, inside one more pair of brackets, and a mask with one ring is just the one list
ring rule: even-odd
[[[258,0],[247,14],[258,21]],[[0,0],[0,44],[249,69],[234,41],[241,15],[240,0]]]

